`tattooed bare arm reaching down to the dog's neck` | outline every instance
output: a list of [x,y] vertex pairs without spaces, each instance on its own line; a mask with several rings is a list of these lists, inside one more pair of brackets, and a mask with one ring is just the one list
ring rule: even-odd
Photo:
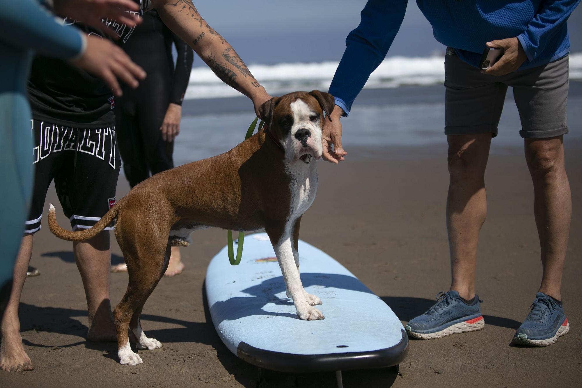
[[189,44],[222,82],[253,101],[258,115],[258,108],[271,96],[235,49],[198,13],[192,0],[153,0],[152,5],[166,26]]

